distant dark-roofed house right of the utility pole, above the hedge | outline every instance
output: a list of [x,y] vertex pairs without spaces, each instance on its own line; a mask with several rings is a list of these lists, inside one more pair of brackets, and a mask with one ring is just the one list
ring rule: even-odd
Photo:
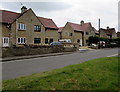
[[115,28],[109,28],[109,27],[107,27],[106,29],[100,28],[100,37],[110,38],[110,39],[116,38],[117,34]]

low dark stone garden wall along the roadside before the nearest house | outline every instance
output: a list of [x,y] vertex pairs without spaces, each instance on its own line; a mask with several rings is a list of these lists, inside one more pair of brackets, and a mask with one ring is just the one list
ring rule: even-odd
[[11,47],[2,48],[2,57],[15,57],[27,55],[40,55],[58,52],[74,52],[76,47],[62,47],[62,46],[45,46],[45,47]]

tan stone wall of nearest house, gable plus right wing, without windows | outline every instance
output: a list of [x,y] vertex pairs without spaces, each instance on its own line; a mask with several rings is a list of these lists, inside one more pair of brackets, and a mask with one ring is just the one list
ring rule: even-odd
[[[26,24],[26,30],[17,30],[16,24],[23,23]],[[41,32],[34,31],[34,25],[41,26]],[[12,24],[12,42],[16,44],[16,37],[26,38],[26,44],[34,44],[34,38],[41,38],[40,44],[45,44],[45,38],[53,38],[54,41],[58,41],[58,32],[57,30],[48,30],[45,31],[45,27],[41,24],[32,10],[28,10],[25,14],[23,14],[20,18],[18,18]],[[17,33],[16,33],[17,32]]]

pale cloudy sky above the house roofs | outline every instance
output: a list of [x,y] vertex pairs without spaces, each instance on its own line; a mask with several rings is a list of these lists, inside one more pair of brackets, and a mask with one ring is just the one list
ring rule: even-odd
[[[101,28],[115,27],[118,31],[119,0],[4,0],[0,9],[20,12],[22,5],[32,8],[37,16],[52,18],[58,27],[66,22],[91,22],[98,29],[98,19]],[[22,3],[22,5],[21,5]]]

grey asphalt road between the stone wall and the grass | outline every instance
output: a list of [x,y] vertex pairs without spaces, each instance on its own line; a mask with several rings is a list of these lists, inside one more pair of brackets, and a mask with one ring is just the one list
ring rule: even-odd
[[78,51],[66,55],[2,62],[2,79],[6,80],[37,72],[57,69],[71,64],[79,64],[95,58],[111,56],[117,53],[118,48],[100,49],[86,51],[83,53]]

